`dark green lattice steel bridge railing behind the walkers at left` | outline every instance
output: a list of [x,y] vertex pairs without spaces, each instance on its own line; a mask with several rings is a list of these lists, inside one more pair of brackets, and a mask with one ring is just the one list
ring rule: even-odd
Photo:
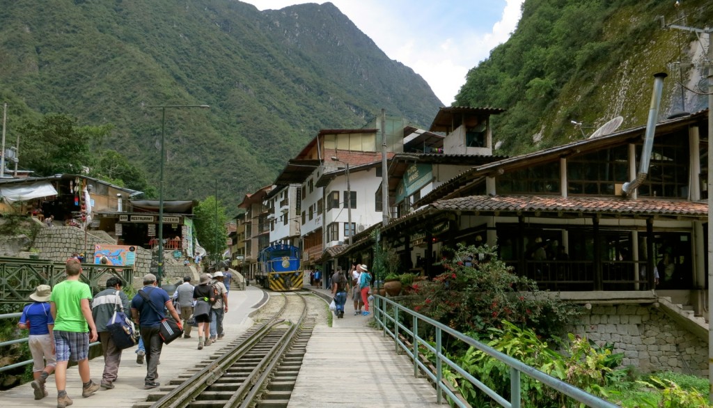
[[[0,257],[0,304],[24,305],[38,285],[54,287],[65,279],[64,262]],[[133,284],[134,271],[92,263],[82,264],[80,279],[96,294],[104,289],[110,276],[120,277],[125,285]]]

